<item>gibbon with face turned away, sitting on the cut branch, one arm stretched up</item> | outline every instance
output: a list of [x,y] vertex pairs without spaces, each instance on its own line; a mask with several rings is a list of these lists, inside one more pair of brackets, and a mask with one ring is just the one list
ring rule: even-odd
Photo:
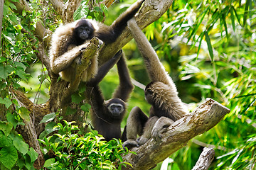
[[[174,82],[159,61],[156,52],[146,39],[134,18],[128,21],[134,40],[144,58],[151,79],[145,88],[145,98],[151,104],[149,118],[139,107],[132,108],[127,119],[127,141],[124,147],[143,145],[150,137],[161,140],[161,132],[166,131],[174,121],[187,113]],[[137,138],[137,135],[140,137]]]

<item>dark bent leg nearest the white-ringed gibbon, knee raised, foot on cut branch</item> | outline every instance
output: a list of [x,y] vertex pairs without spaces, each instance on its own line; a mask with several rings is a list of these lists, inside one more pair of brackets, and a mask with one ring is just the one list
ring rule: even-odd
[[132,108],[127,118],[127,141],[124,142],[123,147],[127,147],[128,149],[139,147],[136,142],[137,135],[142,135],[143,128],[148,119],[139,107]]

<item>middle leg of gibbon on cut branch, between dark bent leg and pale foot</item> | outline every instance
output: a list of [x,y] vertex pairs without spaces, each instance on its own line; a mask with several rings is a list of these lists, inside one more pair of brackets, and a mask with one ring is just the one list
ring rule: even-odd
[[147,120],[146,125],[143,129],[143,135],[137,139],[139,145],[144,145],[146,141],[151,137],[151,130],[153,129],[156,121],[159,119],[157,116],[153,116]]

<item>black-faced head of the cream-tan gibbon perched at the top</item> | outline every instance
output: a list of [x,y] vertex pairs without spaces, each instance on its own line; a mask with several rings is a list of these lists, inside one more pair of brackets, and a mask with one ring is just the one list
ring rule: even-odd
[[94,26],[92,26],[90,20],[87,19],[80,19],[74,28],[75,37],[81,42],[92,39],[94,37],[94,32]]

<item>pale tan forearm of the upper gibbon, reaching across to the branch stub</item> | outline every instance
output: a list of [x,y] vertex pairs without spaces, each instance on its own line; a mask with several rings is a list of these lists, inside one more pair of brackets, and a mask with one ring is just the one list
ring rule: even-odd
[[52,70],[55,74],[63,71],[64,69],[68,68],[76,57],[82,55],[82,48],[87,47],[87,43],[73,47],[71,50],[68,50],[63,55],[56,57],[53,62],[51,62]]

